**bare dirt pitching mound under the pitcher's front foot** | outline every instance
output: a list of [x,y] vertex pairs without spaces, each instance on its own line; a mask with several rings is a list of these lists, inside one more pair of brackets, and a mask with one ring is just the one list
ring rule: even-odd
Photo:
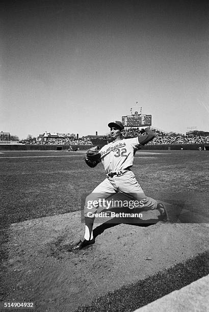
[[73,253],[84,231],[81,212],[12,224],[4,301],[72,311],[204,251],[207,230],[205,224],[95,224],[96,244]]

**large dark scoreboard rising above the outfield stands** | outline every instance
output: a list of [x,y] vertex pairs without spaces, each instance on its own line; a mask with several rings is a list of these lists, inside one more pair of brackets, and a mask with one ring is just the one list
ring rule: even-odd
[[122,116],[122,124],[124,127],[143,127],[151,126],[152,116],[151,115],[129,115]]

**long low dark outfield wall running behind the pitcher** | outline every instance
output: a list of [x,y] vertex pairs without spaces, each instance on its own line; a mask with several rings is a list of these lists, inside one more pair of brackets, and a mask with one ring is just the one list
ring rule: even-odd
[[[0,151],[7,150],[68,150],[72,146],[73,149],[87,150],[92,145],[37,145],[37,144],[1,144]],[[204,149],[208,144],[155,144],[145,145],[143,149],[149,150],[198,150],[199,147]]]

